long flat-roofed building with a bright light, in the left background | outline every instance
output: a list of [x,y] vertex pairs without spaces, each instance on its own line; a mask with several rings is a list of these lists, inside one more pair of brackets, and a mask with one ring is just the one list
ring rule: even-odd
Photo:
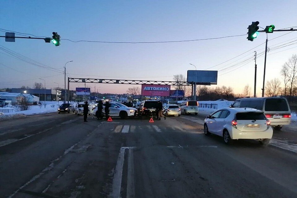
[[32,94],[39,97],[40,101],[44,101],[44,96],[46,101],[56,101],[57,91],[54,89],[24,89],[24,88],[12,88],[11,92],[14,93],[24,93]]

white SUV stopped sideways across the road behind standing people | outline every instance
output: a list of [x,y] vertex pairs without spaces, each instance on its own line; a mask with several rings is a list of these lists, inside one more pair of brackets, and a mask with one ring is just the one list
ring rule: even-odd
[[[123,105],[121,103],[115,103],[115,102],[111,102],[109,103],[110,107],[109,107],[109,115],[111,117],[121,117],[122,119],[127,118],[127,116],[135,116],[136,115],[136,108],[133,107],[127,107],[126,105]],[[105,104],[103,104],[103,109],[102,109],[102,115],[105,115]],[[98,107],[96,107],[93,110],[93,115],[96,115]]]

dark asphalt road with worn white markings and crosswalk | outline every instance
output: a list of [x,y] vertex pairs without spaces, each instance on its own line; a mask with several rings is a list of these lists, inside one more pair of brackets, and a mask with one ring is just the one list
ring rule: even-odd
[[203,134],[199,116],[3,121],[0,197],[297,197],[296,130],[275,132],[291,141],[280,145],[227,146]]

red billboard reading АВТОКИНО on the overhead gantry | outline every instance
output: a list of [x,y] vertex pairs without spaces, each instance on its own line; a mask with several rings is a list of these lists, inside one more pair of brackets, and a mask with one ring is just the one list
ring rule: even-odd
[[143,96],[169,96],[170,85],[141,85]]

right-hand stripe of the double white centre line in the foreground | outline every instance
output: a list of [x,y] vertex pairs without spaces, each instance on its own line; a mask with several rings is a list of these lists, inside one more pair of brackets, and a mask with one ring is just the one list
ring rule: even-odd
[[127,198],[134,198],[134,160],[133,160],[133,150],[129,149],[128,156],[128,175],[127,175]]

